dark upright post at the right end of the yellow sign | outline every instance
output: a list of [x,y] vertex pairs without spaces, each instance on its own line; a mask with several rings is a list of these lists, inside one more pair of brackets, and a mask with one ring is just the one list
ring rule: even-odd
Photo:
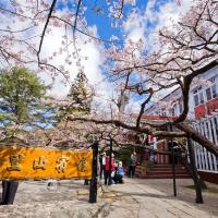
[[93,148],[93,175],[90,180],[89,185],[89,203],[96,203],[97,202],[97,160],[98,160],[98,142],[95,141],[92,145]]

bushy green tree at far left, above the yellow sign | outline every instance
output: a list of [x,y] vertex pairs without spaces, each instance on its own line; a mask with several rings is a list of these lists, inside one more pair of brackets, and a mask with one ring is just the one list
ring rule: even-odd
[[26,68],[0,73],[0,120],[21,124],[32,120],[45,85]]

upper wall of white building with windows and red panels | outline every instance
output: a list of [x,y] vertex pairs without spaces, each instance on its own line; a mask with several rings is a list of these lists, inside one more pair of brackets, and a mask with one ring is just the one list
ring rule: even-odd
[[[146,109],[145,114],[179,116],[183,110],[181,89],[175,88],[164,97],[160,102]],[[189,119],[199,120],[211,116],[214,111],[218,110],[218,68],[211,69],[193,81],[190,89],[189,106]]]

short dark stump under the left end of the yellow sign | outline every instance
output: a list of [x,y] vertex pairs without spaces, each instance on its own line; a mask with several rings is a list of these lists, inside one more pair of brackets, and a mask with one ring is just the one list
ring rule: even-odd
[[2,181],[2,201],[1,205],[13,204],[19,182],[14,180]]

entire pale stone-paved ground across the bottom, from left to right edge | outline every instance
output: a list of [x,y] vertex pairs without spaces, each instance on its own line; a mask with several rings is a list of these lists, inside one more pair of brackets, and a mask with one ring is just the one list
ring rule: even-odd
[[88,186],[81,180],[60,181],[53,189],[43,181],[21,182],[14,205],[0,206],[0,218],[218,217],[218,194],[204,192],[205,204],[196,204],[195,191],[185,187],[193,184],[190,179],[177,180],[177,197],[169,179],[124,181],[99,189],[97,204],[88,203]]

